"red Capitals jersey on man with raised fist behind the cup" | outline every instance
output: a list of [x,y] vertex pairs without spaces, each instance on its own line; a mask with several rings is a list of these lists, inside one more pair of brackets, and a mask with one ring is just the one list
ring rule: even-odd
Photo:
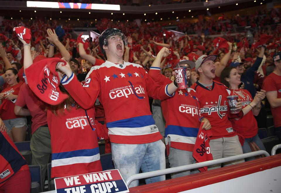
[[[150,67],[149,75],[156,82],[169,84],[169,80],[160,74],[160,68]],[[177,90],[174,97],[161,101],[163,116],[166,120],[165,144],[169,155],[168,139],[171,147],[186,151],[193,151],[198,129],[200,127],[201,113],[197,93],[194,89]]]

